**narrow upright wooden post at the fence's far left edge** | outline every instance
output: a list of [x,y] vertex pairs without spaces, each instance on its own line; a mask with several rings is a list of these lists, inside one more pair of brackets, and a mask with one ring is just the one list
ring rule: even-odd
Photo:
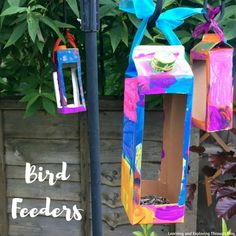
[[0,236],[8,235],[7,190],[4,155],[3,111],[0,110]]

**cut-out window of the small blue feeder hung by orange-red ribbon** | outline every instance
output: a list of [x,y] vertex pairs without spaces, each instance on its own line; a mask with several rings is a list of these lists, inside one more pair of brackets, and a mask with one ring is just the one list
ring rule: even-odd
[[81,106],[77,63],[63,64],[63,75],[66,105],[68,107]]

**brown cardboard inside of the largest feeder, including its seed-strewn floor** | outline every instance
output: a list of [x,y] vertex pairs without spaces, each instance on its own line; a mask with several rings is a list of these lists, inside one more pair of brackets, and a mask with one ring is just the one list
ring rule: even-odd
[[[186,101],[186,95],[164,95],[163,143],[156,142],[162,151],[155,161],[160,164],[160,173],[157,178],[153,176],[152,180],[145,180],[141,176],[141,205],[178,203],[183,172]],[[145,166],[145,156],[142,164]],[[156,167],[155,173],[158,173],[158,165]]]

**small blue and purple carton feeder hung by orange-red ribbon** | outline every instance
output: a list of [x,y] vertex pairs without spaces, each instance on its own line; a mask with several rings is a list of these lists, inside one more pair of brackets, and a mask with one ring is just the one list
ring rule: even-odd
[[[79,49],[74,42],[74,36],[66,31],[66,36],[73,48],[67,48],[66,45],[60,45],[61,39],[58,39],[53,50],[53,62],[55,70],[53,72],[53,81],[55,96],[57,101],[57,111],[60,114],[71,114],[86,111],[84,99],[81,63]],[[65,81],[65,72],[70,71],[70,78]],[[69,91],[67,87],[71,87]]]

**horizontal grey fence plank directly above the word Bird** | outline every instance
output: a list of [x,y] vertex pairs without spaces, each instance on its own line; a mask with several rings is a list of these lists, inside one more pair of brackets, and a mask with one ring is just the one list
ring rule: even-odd
[[6,164],[23,165],[62,163],[79,164],[78,141],[71,140],[38,140],[38,139],[7,139]]

